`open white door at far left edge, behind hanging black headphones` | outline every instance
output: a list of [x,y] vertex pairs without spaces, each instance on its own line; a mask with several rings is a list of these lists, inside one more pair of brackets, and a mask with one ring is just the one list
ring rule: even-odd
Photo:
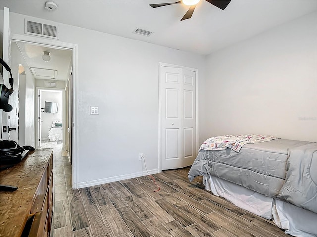
[[[3,7],[3,57],[2,59],[10,66],[10,49],[11,48],[11,40],[10,40],[10,28],[9,28],[9,8]],[[9,85],[9,72],[3,67],[2,71],[3,81],[6,87],[10,88]],[[15,92],[13,92],[15,93]],[[11,98],[9,98],[9,104],[11,104]],[[10,113],[11,112],[4,112],[0,110],[0,115],[2,117],[2,124],[1,124],[1,134],[2,139],[10,139],[10,131],[8,127],[11,126],[10,121]]]

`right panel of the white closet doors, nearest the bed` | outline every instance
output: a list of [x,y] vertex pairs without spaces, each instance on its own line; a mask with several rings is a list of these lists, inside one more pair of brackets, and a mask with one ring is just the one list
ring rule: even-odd
[[196,72],[183,69],[182,78],[182,167],[186,167],[196,158]]

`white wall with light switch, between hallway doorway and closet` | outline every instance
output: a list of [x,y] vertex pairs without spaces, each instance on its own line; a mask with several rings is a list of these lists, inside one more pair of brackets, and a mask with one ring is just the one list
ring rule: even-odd
[[[23,35],[25,16],[10,17],[11,33]],[[64,24],[59,24],[59,40],[78,44],[74,83],[80,185],[139,175],[145,171],[139,152],[149,170],[158,170],[159,62],[197,68],[203,101],[204,57]],[[99,106],[99,115],[90,115],[90,106]]]

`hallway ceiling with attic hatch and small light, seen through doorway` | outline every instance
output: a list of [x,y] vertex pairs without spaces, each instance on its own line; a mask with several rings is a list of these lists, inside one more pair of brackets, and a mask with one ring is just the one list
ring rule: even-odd
[[[39,45],[25,43],[25,42],[15,42],[15,43],[18,45],[30,69],[32,70],[32,68],[36,68],[35,72],[41,71],[40,76],[32,72],[34,75],[34,78],[45,79],[45,80],[67,80],[68,79],[69,72],[72,65],[72,50],[50,48],[46,46],[39,46]],[[45,62],[42,59],[44,51],[50,53],[51,60],[49,62]],[[46,70],[38,70],[38,69],[46,69]],[[57,71],[57,76],[52,76],[52,73],[51,73],[52,70]],[[42,76],[42,75],[47,75],[47,76]]]

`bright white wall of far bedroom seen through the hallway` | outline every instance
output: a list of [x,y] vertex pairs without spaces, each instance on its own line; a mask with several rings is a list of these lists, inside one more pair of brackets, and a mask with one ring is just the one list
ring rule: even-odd
[[45,101],[58,103],[57,113],[42,113],[42,140],[48,139],[49,130],[52,127],[53,120],[63,120],[63,94],[62,91],[42,90],[41,108],[45,107]]

